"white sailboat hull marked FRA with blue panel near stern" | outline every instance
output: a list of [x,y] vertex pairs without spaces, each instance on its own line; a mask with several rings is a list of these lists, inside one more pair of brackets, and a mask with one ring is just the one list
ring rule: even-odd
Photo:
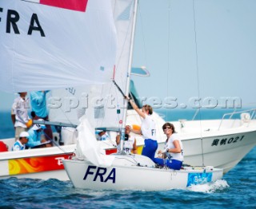
[[115,156],[109,168],[97,167],[81,160],[63,160],[63,164],[74,187],[92,190],[164,191],[222,179],[223,170],[218,168],[175,171],[154,168],[153,162],[142,166],[145,156]]

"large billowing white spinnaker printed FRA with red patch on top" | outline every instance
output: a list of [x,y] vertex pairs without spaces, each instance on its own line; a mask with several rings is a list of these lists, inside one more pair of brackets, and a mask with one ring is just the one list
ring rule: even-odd
[[111,81],[117,51],[111,1],[77,1],[0,1],[0,90]]

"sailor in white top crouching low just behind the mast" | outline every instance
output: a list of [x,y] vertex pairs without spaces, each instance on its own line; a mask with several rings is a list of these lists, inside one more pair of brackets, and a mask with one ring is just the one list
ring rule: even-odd
[[[116,137],[116,142],[118,145],[118,152],[121,151],[120,146],[120,135]],[[136,146],[136,139],[134,136],[130,136],[130,126],[126,125],[126,132],[125,132],[125,140],[123,142],[123,151],[130,154],[131,151],[134,154],[137,154],[137,146]]]

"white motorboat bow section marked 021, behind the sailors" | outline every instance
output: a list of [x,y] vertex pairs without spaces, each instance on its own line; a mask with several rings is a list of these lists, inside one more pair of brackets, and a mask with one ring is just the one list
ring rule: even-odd
[[[157,124],[158,148],[163,148],[165,121],[154,115]],[[140,124],[136,112],[127,116],[128,124]],[[210,165],[223,168],[224,174],[234,168],[256,145],[256,120],[182,120],[171,121],[182,140],[184,164]],[[136,137],[137,144],[143,140]]]

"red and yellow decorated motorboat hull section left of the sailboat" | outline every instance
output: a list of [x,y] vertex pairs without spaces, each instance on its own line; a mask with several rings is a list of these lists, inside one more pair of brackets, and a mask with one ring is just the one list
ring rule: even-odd
[[75,144],[58,147],[0,152],[0,179],[9,177],[68,180],[63,159],[73,155]]

